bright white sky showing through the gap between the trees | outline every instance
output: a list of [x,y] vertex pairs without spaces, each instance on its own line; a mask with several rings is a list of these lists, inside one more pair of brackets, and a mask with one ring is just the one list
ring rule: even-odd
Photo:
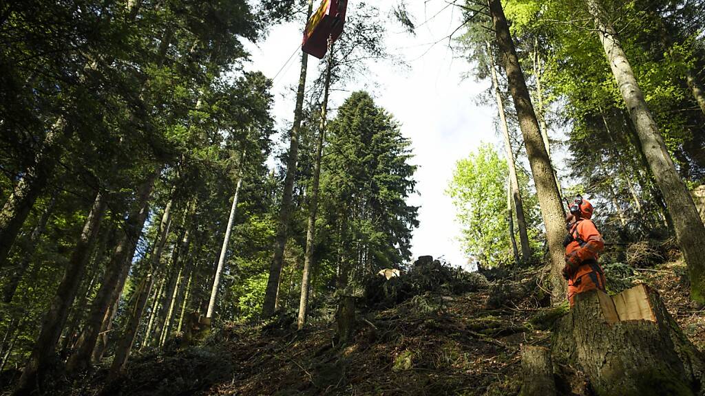
[[[396,0],[379,0],[374,4],[386,16]],[[494,127],[496,109],[489,104],[477,104],[478,94],[488,83],[477,83],[473,78],[463,80],[462,75],[472,71],[472,67],[467,61],[455,58],[459,54],[454,56],[450,51],[448,40],[432,45],[460,25],[458,10],[446,6],[442,0],[409,1],[407,9],[416,25],[435,16],[417,28],[415,36],[403,32],[396,23],[388,27],[388,50],[405,58],[409,67],[403,70],[391,63],[373,63],[364,81],[331,94],[331,106],[337,108],[354,90],[367,89],[376,104],[400,122],[401,132],[412,141],[415,154],[412,162],[419,166],[415,175],[418,194],[410,199],[410,204],[420,206],[413,255],[444,256],[454,265],[463,265],[467,256],[457,242],[460,226],[445,190],[458,159],[477,149],[482,141],[499,140]],[[354,11],[355,0],[351,0],[348,13]],[[293,120],[293,87],[298,80],[300,56],[297,54],[285,65],[300,45],[301,31],[299,24],[281,25],[271,30],[266,41],[248,47],[252,54],[248,69],[261,70],[269,78],[279,73],[274,81],[274,116],[280,128]],[[309,81],[316,77],[319,62],[309,56]]]

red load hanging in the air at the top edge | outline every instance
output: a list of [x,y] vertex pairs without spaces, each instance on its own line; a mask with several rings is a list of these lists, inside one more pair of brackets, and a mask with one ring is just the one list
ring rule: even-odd
[[301,49],[319,59],[326,56],[328,37],[331,37],[331,42],[335,42],[343,33],[346,8],[347,0],[323,0],[306,24]]

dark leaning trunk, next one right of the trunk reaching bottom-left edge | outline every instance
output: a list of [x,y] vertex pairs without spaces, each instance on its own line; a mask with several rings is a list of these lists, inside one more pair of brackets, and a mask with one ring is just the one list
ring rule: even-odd
[[120,239],[115,247],[111,260],[106,267],[100,288],[93,299],[86,324],[78,340],[78,348],[68,359],[69,372],[82,371],[90,366],[91,354],[103,328],[109,307],[115,304],[122,292],[125,278],[132,266],[137,241],[140,240],[142,228],[149,213],[149,196],[152,194],[154,182],[161,173],[161,167],[152,173],[137,189],[137,202],[127,221],[125,229],[120,233]]

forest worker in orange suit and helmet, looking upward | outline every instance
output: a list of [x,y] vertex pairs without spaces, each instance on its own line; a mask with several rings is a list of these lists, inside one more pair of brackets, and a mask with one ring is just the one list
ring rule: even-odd
[[605,242],[590,220],[593,208],[587,199],[579,195],[568,209],[563,277],[568,280],[568,301],[572,307],[573,297],[579,293],[594,289],[605,291],[605,275],[597,262]]

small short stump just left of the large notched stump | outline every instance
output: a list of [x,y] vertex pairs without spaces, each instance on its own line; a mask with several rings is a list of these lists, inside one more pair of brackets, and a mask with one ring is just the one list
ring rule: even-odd
[[554,396],[551,351],[544,347],[522,345],[522,390],[520,396]]

